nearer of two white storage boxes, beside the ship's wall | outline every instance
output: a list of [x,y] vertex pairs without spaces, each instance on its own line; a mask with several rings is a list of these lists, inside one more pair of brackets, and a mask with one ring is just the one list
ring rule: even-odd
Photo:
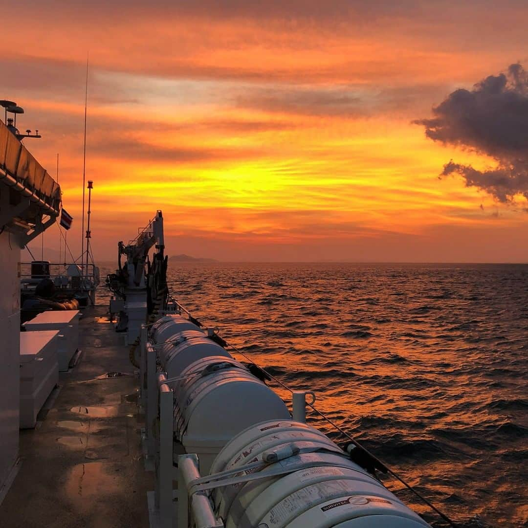
[[20,334],[20,428],[35,427],[36,416],[59,381],[59,331]]

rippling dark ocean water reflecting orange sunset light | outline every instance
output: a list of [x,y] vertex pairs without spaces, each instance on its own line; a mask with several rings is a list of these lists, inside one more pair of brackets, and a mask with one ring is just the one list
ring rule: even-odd
[[171,263],[168,282],[460,526],[528,525],[528,266]]

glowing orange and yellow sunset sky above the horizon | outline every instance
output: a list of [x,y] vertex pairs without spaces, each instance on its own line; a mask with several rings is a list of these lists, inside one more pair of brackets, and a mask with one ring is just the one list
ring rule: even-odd
[[[498,114],[489,83],[474,87],[528,68],[525,0],[0,6],[0,98],[25,108],[18,128],[39,129],[25,145],[52,175],[59,153],[74,253],[89,53],[96,259],[162,209],[169,254],[528,261],[528,151],[508,135],[528,124],[481,138]],[[528,109],[526,76],[511,72],[492,99]],[[459,88],[484,115],[476,136],[449,99]],[[504,171],[511,192],[493,180]],[[45,247],[58,242],[46,231]]]

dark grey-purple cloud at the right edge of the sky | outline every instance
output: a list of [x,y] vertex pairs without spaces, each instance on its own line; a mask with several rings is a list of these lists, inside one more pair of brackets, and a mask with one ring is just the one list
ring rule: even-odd
[[441,176],[461,175],[467,186],[512,202],[528,199],[528,74],[521,64],[489,76],[473,90],[458,89],[433,108],[432,119],[414,121],[433,141],[492,156],[497,166],[478,171],[450,161]]

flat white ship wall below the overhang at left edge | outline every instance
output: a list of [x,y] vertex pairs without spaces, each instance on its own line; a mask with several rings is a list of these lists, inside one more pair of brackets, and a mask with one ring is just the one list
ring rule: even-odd
[[0,496],[18,456],[20,401],[20,247],[0,234]]

